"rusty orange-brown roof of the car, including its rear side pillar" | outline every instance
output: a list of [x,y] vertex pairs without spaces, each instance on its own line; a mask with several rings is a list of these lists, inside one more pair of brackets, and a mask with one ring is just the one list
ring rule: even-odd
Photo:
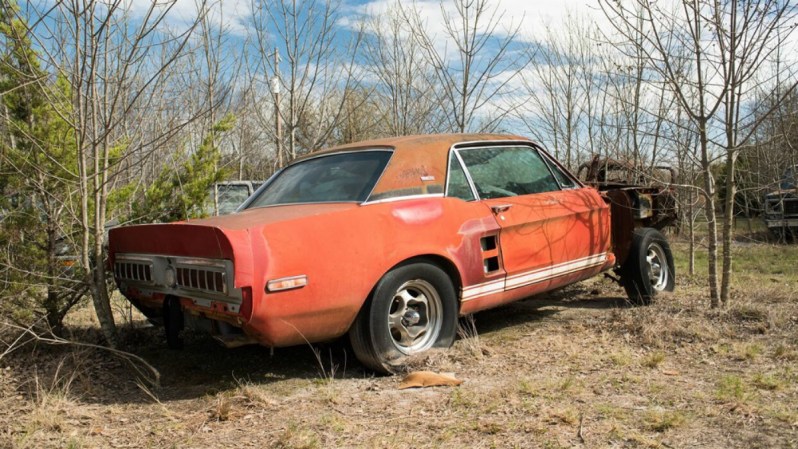
[[303,156],[291,164],[335,153],[391,149],[393,156],[374,186],[369,201],[444,193],[449,149],[456,144],[525,143],[522,136],[505,134],[430,134],[390,137],[336,146]]

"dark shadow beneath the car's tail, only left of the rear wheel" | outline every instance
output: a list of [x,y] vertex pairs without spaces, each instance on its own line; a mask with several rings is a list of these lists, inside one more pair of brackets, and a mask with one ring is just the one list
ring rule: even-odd
[[[98,329],[69,331],[71,341],[101,342]],[[144,376],[136,369],[143,368],[140,363],[79,345],[30,343],[3,358],[2,366],[13,372],[17,392],[29,399],[35,399],[39,384],[61,388],[63,379],[69,378],[66,387],[73,397],[96,404],[152,403],[153,397],[161,402],[196,399],[232,392],[243,384],[289,382],[296,386],[307,381],[310,385],[325,381],[331,373],[336,379],[372,376],[357,362],[344,339],[313,345],[323,368],[308,345],[275,348],[273,352],[257,345],[227,349],[210,335],[189,333],[183,349],[171,350],[166,347],[163,328],[155,327],[120,328],[120,339],[121,350],[140,357],[158,371],[158,386],[142,380]]]

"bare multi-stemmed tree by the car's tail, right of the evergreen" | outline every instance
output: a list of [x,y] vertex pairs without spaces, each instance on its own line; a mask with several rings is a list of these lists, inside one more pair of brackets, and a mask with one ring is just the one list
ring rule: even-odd
[[[168,70],[184,55],[197,22],[177,37],[164,31],[174,3],[153,2],[133,17],[129,3],[74,0],[32,6],[31,36],[42,49],[45,66],[66,80],[64,119],[72,128],[78,167],[78,245],[86,284],[103,334],[116,343],[116,327],[105,272],[105,223],[111,188],[126,157],[152,153],[181,123],[172,121],[158,135],[143,135],[142,123],[157,114],[168,91]],[[198,19],[199,20],[199,19]],[[145,150],[146,149],[146,150]]]

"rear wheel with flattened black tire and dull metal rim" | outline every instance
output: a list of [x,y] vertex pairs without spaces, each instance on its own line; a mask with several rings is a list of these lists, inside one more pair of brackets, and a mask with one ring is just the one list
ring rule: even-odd
[[391,270],[374,287],[349,330],[358,360],[390,374],[405,356],[449,347],[457,332],[457,298],[446,273],[429,263]]

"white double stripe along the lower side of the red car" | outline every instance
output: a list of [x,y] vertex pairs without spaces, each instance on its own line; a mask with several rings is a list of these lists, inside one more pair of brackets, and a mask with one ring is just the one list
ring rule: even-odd
[[501,293],[514,288],[525,287],[537,284],[559,276],[582,271],[603,264],[607,261],[607,253],[595,254],[582,259],[571,260],[546,268],[528,271],[526,273],[514,274],[506,279],[499,279],[482,284],[471,285],[463,288],[461,299],[469,301],[482,296]]

